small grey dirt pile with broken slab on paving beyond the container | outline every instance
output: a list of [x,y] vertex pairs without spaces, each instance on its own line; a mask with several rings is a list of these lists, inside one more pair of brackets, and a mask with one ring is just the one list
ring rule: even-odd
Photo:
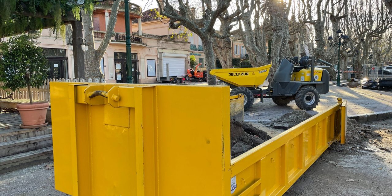
[[305,110],[296,110],[286,114],[283,114],[278,119],[272,122],[272,127],[275,129],[290,129],[298,123],[301,123],[308,118],[312,117],[311,114],[308,114]]

